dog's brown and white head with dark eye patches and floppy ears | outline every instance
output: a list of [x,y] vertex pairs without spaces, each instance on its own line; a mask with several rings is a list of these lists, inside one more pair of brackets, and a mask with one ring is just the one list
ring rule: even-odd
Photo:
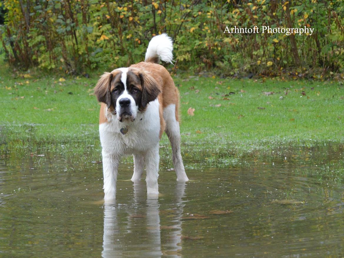
[[157,82],[146,71],[135,68],[105,72],[94,88],[98,101],[104,102],[120,122],[134,121],[137,113],[146,110],[160,92]]

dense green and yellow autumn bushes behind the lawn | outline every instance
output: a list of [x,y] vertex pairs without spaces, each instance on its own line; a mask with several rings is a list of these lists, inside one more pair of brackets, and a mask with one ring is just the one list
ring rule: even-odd
[[[344,71],[344,1],[2,0],[11,65],[82,73],[142,61],[153,35],[175,41],[174,69],[319,76]],[[1,9],[0,9],[1,10]],[[1,15],[0,15],[1,16]],[[232,27],[312,27],[312,36],[224,34]]]

